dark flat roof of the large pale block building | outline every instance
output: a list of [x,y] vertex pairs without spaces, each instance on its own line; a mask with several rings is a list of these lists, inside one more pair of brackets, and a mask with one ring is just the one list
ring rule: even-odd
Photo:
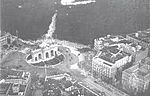
[[101,50],[99,58],[106,60],[110,63],[115,63],[116,61],[128,56],[130,54],[121,51],[117,46],[104,47]]

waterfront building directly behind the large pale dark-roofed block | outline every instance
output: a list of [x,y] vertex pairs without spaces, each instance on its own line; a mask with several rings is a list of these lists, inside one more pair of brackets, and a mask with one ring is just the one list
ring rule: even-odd
[[132,61],[138,62],[148,56],[148,48],[145,48],[138,43],[133,43],[122,36],[107,35],[95,39],[95,50],[99,51],[104,47],[118,46],[122,51],[132,55]]

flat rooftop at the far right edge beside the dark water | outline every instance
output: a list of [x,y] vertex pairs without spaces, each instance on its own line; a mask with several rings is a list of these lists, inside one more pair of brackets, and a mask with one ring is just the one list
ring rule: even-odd
[[135,38],[139,41],[143,41],[145,43],[150,43],[150,30],[138,31],[137,33],[128,34],[128,36]]

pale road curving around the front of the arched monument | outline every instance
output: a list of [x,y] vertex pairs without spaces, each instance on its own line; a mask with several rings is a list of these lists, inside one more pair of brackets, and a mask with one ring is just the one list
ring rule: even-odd
[[[90,87],[91,89],[94,90],[98,90],[98,91],[102,91],[102,90],[106,90],[105,88],[99,86],[98,84],[94,83],[90,78],[87,78],[86,76],[81,74],[81,71],[78,69],[71,69],[70,65],[73,65],[75,63],[79,62],[79,58],[78,56],[76,56],[75,54],[71,53],[71,51],[68,51],[67,53],[63,53],[65,56],[65,60],[61,63],[56,65],[54,68],[49,67],[46,68],[47,69],[47,75],[54,75],[54,74],[59,74],[62,72],[67,72],[69,74],[71,74],[71,76],[76,79],[78,82],[82,82],[84,84],[86,84],[88,87]],[[25,54],[20,53],[20,52],[13,52],[13,54],[10,54],[7,58],[5,58],[5,60],[3,60],[2,64],[3,66],[7,66],[9,67],[11,66],[22,66],[19,68],[19,70],[24,70],[24,71],[29,71],[31,73],[31,79],[34,79],[34,75],[38,74],[40,77],[44,77],[45,76],[45,70],[44,68],[38,68],[35,66],[31,66],[30,64],[27,64],[25,62],[25,58],[24,58]],[[19,58],[19,59],[18,59]],[[31,93],[31,82],[29,82],[29,86],[27,88],[27,93]],[[29,96],[29,94],[27,94],[26,96]],[[108,95],[111,96],[111,95]]]

